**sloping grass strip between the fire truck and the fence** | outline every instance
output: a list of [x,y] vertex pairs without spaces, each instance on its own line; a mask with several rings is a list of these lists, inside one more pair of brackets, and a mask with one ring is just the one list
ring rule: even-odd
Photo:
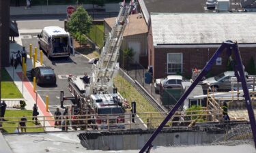
[[[158,110],[155,109],[148,101],[140,94],[140,92],[130,84],[130,82],[126,81],[122,78],[121,75],[117,75],[114,78],[114,84],[118,89],[118,92],[127,99],[130,103],[132,101],[136,101],[137,106],[137,114],[139,114],[140,118],[143,122],[147,122],[147,118],[150,118],[149,114],[141,114],[141,113],[156,113],[153,114],[152,117],[154,122],[162,122],[163,118],[158,114]],[[159,117],[161,119],[159,119]],[[152,121],[153,122],[153,121]],[[153,127],[158,126],[160,123],[153,124]]]

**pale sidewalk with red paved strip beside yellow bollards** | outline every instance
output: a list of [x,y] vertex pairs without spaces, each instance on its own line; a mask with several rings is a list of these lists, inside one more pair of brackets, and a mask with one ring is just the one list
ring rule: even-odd
[[[22,50],[22,42],[20,37],[16,38],[16,43],[10,44],[10,56],[12,56],[13,51]],[[29,50],[27,50],[29,51]],[[36,62],[36,67],[41,66],[40,63]],[[29,58],[29,54],[27,55],[27,71],[30,71],[33,68],[33,59]],[[16,84],[17,88],[20,90],[20,92],[23,92],[23,97],[26,101],[27,106],[26,109],[32,110],[33,105],[36,103],[38,104],[38,116],[53,116],[51,112],[46,111],[46,105],[44,103],[44,100],[40,95],[38,95],[38,100],[36,100],[36,94],[33,92],[33,84],[29,82],[28,78],[23,78],[22,68],[20,65],[18,65],[17,69],[13,69],[12,66],[5,67],[5,69],[10,74],[10,77],[14,80],[14,84]],[[13,73],[14,71],[14,73]],[[14,74],[14,76],[12,76]],[[22,81],[23,80],[23,81]],[[31,114],[32,116],[32,114]],[[46,120],[53,120],[53,117],[47,117]],[[42,120],[41,120],[42,121]],[[45,122],[45,126],[52,126],[51,128],[46,128],[46,131],[60,131],[60,129],[53,128],[54,122]],[[43,122],[41,122],[43,124]]]

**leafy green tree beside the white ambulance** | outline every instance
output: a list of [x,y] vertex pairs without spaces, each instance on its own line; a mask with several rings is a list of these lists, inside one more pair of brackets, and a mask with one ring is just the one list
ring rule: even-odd
[[83,44],[86,41],[85,35],[90,32],[92,26],[91,16],[87,11],[79,6],[71,15],[70,20],[68,20],[68,31],[76,38],[80,39],[79,44]]

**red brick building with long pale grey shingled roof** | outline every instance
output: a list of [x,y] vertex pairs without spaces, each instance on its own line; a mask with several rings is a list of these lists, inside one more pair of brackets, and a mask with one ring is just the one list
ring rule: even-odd
[[[238,41],[244,65],[256,57],[256,14],[154,14],[148,36],[148,62],[154,78],[202,69],[226,40]],[[212,74],[227,69],[221,54]]]

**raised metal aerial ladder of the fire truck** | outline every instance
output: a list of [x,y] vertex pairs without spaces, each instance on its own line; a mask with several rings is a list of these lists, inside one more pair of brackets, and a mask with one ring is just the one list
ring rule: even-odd
[[119,49],[122,45],[122,37],[126,27],[126,20],[131,12],[131,5],[121,6],[117,16],[115,26],[111,30],[105,46],[102,48],[100,59],[94,67],[96,78],[93,88],[94,92],[108,92],[109,81],[113,78],[113,73],[117,69],[116,63],[119,57]]

